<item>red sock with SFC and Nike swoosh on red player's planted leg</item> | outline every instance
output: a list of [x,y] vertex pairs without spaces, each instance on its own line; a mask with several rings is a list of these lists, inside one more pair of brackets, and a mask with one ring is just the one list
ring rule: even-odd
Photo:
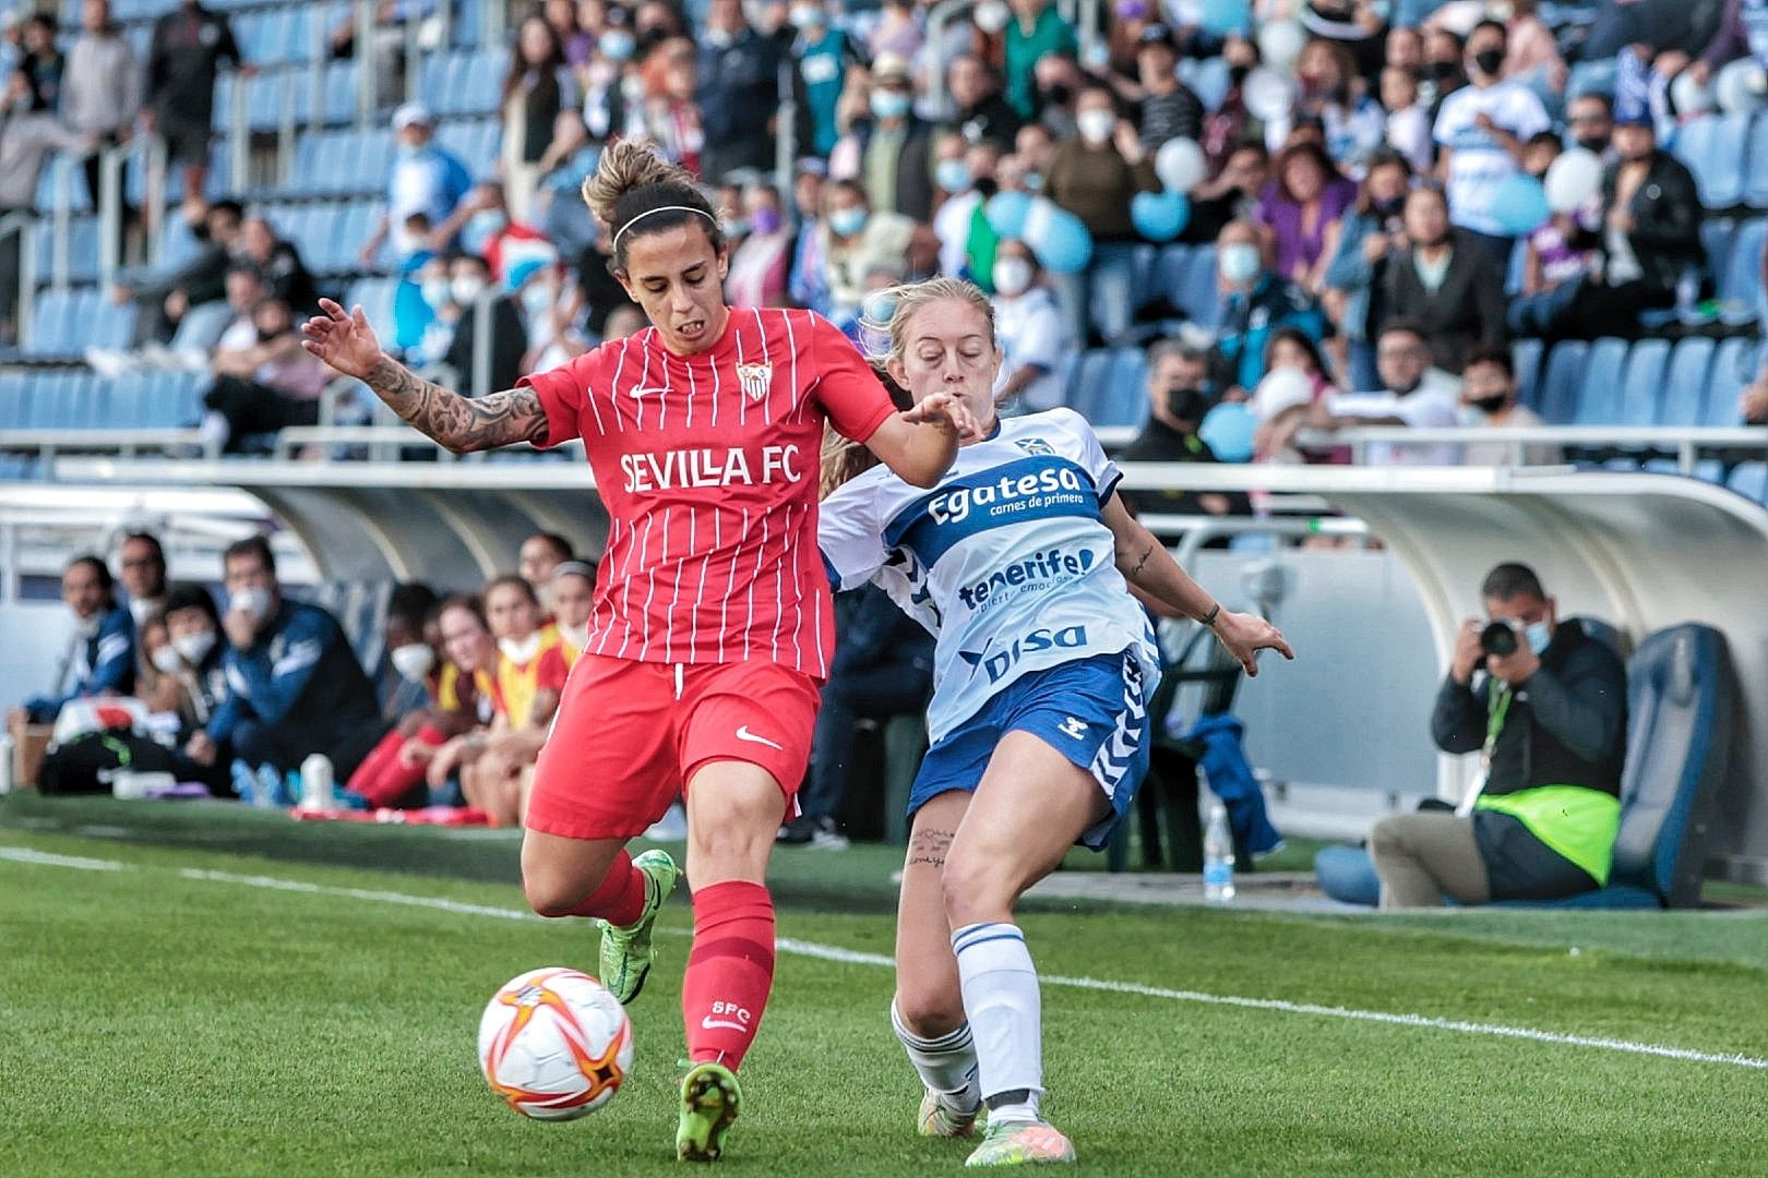
[[688,1058],[735,1070],[773,987],[773,897],[732,880],[693,894],[693,952],[681,984]]

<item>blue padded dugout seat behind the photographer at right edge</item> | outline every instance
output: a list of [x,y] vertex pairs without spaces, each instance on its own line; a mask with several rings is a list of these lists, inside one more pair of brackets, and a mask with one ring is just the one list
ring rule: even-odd
[[1609,887],[1505,908],[1694,908],[1731,761],[1734,710],[1724,636],[1658,631],[1627,664],[1627,768]]

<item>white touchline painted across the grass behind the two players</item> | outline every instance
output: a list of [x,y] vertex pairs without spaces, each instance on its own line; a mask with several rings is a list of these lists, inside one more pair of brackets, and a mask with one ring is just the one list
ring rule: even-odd
[[[110,858],[80,858],[74,855],[48,855],[27,848],[0,846],[0,858],[41,867],[78,867],[81,871],[126,871],[129,864]],[[278,876],[242,876],[230,871],[202,871],[180,867],[177,872],[184,880],[203,883],[237,883],[251,888],[271,888],[278,892],[304,892],[308,895],[339,895],[345,899],[371,901],[378,904],[403,904],[407,908],[433,908],[467,917],[493,917],[497,920],[541,920],[532,911],[518,908],[493,908],[490,904],[467,904],[444,899],[440,895],[410,895],[407,892],[382,892],[375,888],[341,888],[325,883],[306,883],[302,880],[283,880]],[[688,936],[686,929],[665,929]],[[868,954],[838,945],[819,941],[801,941],[781,936],[774,941],[781,954],[797,957],[815,957],[817,961],[834,961],[854,966],[895,968],[896,961],[886,954]],[[1328,1019],[1353,1019],[1358,1023],[1384,1023],[1388,1026],[1414,1026],[1437,1031],[1457,1031],[1462,1035],[1492,1035],[1497,1038],[1522,1038],[1536,1044],[1559,1044],[1563,1047],[1595,1047],[1598,1051],[1619,1051],[1623,1054],[1658,1056],[1662,1060],[1685,1060],[1690,1063],[1724,1063],[1768,1070],[1768,1060],[1747,1054],[1722,1054],[1713,1051],[1692,1051],[1688,1047],[1664,1047],[1660,1044],[1642,1044],[1630,1038],[1602,1038],[1593,1035],[1561,1035],[1558,1031],[1536,1031],[1528,1026],[1505,1026],[1501,1023],[1469,1023],[1466,1019],[1439,1019],[1423,1014],[1391,1014],[1386,1010],[1356,1010],[1351,1007],[1322,1007],[1310,1001],[1285,1001],[1282,998],[1239,998],[1234,994],[1206,994],[1190,989],[1165,989],[1162,985],[1142,985],[1140,982],[1112,982],[1107,978],[1073,978],[1048,975],[1041,978],[1045,985],[1064,985],[1070,989],[1089,989],[1110,994],[1135,994],[1140,998],[1163,998],[1167,1001],[1188,1001],[1208,1007],[1239,1007],[1243,1010],[1276,1010],[1280,1014],[1308,1014]]]

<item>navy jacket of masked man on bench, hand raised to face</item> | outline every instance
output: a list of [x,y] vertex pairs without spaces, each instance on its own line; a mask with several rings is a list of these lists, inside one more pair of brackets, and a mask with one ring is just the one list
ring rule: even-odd
[[302,731],[331,735],[380,717],[343,627],[318,606],[285,599],[251,650],[228,646],[221,666],[228,694],[205,729],[216,744],[249,721],[276,724],[299,744]]

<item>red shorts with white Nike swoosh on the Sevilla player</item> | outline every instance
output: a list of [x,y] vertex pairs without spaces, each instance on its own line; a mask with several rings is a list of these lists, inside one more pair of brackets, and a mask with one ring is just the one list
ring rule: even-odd
[[636,662],[585,653],[534,766],[527,827],[631,839],[709,761],[748,761],[796,809],[817,722],[817,680],[778,662]]

